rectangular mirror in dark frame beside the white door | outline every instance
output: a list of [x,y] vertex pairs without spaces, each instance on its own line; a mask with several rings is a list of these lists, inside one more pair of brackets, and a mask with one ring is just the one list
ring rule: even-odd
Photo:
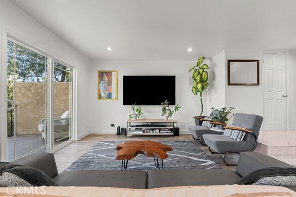
[[228,60],[228,85],[260,85],[259,60]]

